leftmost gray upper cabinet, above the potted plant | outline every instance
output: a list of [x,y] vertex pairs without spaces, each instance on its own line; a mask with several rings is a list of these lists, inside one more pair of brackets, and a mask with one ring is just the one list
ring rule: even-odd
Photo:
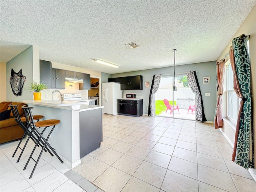
[[40,60],[40,82],[44,82],[48,88],[51,87],[51,69],[52,64],[50,61]]

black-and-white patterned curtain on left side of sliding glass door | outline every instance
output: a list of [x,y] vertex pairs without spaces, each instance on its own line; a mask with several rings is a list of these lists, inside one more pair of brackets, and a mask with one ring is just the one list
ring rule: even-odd
[[154,114],[155,114],[154,94],[158,90],[161,77],[162,77],[161,74],[153,76],[151,89],[150,89],[150,93],[149,93],[148,116],[154,116]]

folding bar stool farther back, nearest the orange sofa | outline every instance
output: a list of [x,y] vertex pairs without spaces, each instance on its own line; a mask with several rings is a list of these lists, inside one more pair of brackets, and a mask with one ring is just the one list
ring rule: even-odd
[[[17,106],[19,106],[19,105],[12,105],[12,104],[10,104],[10,105],[8,105],[8,106],[11,108],[12,114],[13,114],[13,116],[14,116],[14,120],[15,120],[15,121],[18,123],[18,125],[20,125],[20,127],[24,130],[24,134],[23,134],[23,136],[22,136],[22,138],[21,138],[21,140],[20,140],[18,146],[16,147],[16,149],[15,149],[15,151],[14,151],[14,154],[12,155],[12,157],[14,157],[15,154],[16,154],[16,152],[17,152],[17,150],[18,150],[18,148],[21,149],[20,156],[19,156],[19,158],[18,158],[18,160],[17,160],[17,163],[18,163],[18,162],[20,161],[20,158],[21,158],[21,156],[22,156],[22,154],[23,154],[25,148],[26,148],[26,145],[28,144],[28,140],[31,138],[34,143],[36,143],[37,140],[35,139],[34,135],[31,134],[31,131],[28,130],[28,126],[27,126],[27,125],[24,125],[24,123],[26,123],[26,118],[25,118],[25,117],[20,117],[20,115],[19,115],[19,113],[18,113],[18,109],[17,109]],[[34,115],[33,118],[34,118],[34,120],[39,121],[40,119],[44,118],[44,116],[42,116],[42,115]],[[27,138],[27,140],[26,140],[26,142],[25,142],[23,148],[21,148],[21,147],[20,147],[20,144],[21,144],[22,140],[24,139],[24,137],[25,137],[26,135],[28,135],[28,138]]]

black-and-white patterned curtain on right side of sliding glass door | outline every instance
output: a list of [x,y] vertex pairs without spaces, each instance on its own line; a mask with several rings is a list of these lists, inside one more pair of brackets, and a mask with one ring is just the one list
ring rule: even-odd
[[196,76],[196,71],[186,72],[188,78],[188,84],[194,94],[196,94],[196,120],[207,121],[204,115],[204,105],[201,96],[200,86]]

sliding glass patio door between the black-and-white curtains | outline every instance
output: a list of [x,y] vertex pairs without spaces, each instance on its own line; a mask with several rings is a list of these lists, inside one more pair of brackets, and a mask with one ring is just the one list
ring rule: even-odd
[[[180,74],[175,77],[177,91],[173,91],[173,84],[174,76],[162,76],[159,88],[155,93],[155,115],[195,120],[195,94],[188,84],[186,74]],[[168,106],[166,100],[168,100],[170,106]]]

